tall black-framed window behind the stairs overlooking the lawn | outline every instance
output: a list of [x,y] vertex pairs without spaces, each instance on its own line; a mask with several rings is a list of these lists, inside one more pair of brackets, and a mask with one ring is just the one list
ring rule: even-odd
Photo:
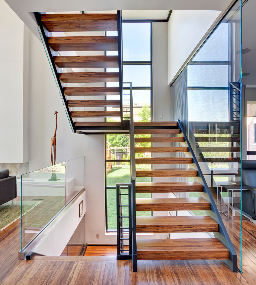
[[[107,33],[107,35],[114,35]],[[116,55],[115,52],[107,52]],[[118,71],[108,68],[107,71]],[[132,82],[134,121],[151,121],[152,112],[152,23],[123,23],[123,80]],[[118,86],[118,83],[107,83]],[[124,92],[125,93],[125,92]],[[107,99],[116,99],[107,96]],[[129,101],[124,95],[123,114],[129,112]],[[118,111],[109,108],[109,111]],[[109,118],[108,121],[116,121]],[[145,135],[144,135],[145,136]],[[146,135],[147,136],[147,135]],[[106,229],[116,231],[116,183],[130,182],[129,134],[105,135],[106,168]],[[145,146],[141,143],[137,146]],[[136,154],[142,156],[142,154]],[[138,168],[150,168],[150,165]],[[151,181],[151,178],[137,178],[136,181]],[[148,193],[138,193],[136,197],[151,197]],[[151,212],[140,212],[141,216],[150,216]]]

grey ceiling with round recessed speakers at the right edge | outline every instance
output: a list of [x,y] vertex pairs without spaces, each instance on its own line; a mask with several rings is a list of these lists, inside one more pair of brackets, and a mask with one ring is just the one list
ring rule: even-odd
[[248,0],[242,8],[242,48],[251,48],[242,54],[242,72],[251,73],[243,77],[243,85],[256,84],[256,1]]

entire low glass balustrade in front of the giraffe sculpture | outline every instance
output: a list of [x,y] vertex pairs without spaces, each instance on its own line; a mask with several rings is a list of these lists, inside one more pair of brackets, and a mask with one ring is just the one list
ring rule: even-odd
[[[84,189],[84,156],[22,174],[21,251]],[[29,210],[24,205],[32,204]]]

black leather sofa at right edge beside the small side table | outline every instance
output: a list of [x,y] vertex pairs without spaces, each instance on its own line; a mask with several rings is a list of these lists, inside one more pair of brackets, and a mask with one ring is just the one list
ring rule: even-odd
[[256,220],[256,160],[242,161],[242,183],[252,187],[243,190],[242,210]]

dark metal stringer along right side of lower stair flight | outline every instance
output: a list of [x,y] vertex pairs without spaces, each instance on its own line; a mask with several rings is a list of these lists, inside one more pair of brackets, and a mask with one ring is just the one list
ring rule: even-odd
[[191,156],[193,159],[193,163],[195,164],[195,166],[197,167],[197,176],[201,178],[202,183],[203,183],[203,192],[207,194],[207,197],[204,197],[209,203],[210,203],[210,211],[209,211],[209,216],[211,216],[214,221],[216,221],[216,223],[218,223],[219,225],[219,231],[214,233],[214,236],[216,238],[218,238],[223,244],[224,246],[226,246],[226,248],[229,250],[229,259],[225,260],[226,264],[228,265],[228,267],[232,270],[232,272],[237,272],[237,254],[236,251],[234,249],[234,246],[230,240],[230,237],[228,235],[228,232],[226,230],[226,227],[224,226],[224,223],[222,221],[222,218],[220,217],[220,213],[218,211],[218,208],[214,202],[214,198],[212,197],[212,193],[205,181],[205,178],[203,176],[203,173],[201,171],[201,168],[199,166],[199,163],[197,161],[197,158],[195,156],[195,153],[193,152],[193,149],[191,147],[191,144],[189,142],[189,139],[186,135],[186,132],[183,128],[183,125],[181,124],[181,121],[178,119],[177,120],[178,123],[178,127],[180,128],[185,142],[187,143],[188,149],[191,152]]

